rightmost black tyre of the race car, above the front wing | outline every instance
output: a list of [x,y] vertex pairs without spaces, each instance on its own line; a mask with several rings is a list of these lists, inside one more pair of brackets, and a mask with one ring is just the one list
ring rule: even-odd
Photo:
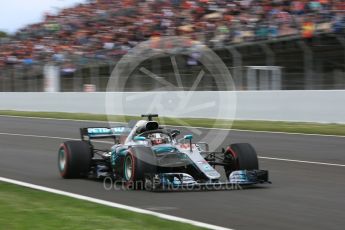
[[224,162],[228,163],[228,166],[224,166],[227,178],[235,170],[259,169],[256,151],[248,143],[230,145],[225,151]]

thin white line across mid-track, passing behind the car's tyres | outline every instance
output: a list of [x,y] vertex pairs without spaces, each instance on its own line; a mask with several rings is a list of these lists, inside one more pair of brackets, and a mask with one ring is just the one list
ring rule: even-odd
[[[41,136],[41,135],[32,135],[32,134],[19,134],[19,133],[0,133],[0,135],[33,137],[33,138],[47,138],[47,139],[57,139],[57,140],[77,140],[77,141],[80,140],[78,138]],[[98,140],[95,140],[93,142],[105,143],[105,144],[113,144],[114,143],[114,142],[111,142],[111,141],[98,141]],[[345,167],[345,165],[342,165],[342,164],[335,164],[335,163],[328,163],[328,162],[305,161],[305,160],[295,160],[295,159],[286,159],[286,158],[277,158],[277,157],[264,157],[264,156],[258,156],[258,158],[266,159],[266,160],[276,160],[276,161],[287,161],[287,162],[295,162],[295,163],[306,163],[306,164],[315,164],[315,165],[327,165],[327,166]]]

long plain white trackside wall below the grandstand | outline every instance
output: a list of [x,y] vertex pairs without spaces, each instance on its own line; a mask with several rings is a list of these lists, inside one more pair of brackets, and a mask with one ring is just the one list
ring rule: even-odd
[[[171,92],[169,92],[171,93]],[[176,97],[185,92],[173,92]],[[135,95],[136,101],[126,104],[126,114],[138,115],[147,111],[148,98],[166,95],[167,92],[113,92],[114,105],[122,106],[124,95]],[[193,92],[191,104],[203,103],[205,98],[237,97],[237,120],[298,121],[321,123],[345,123],[345,90],[301,90],[301,91],[237,91],[237,92]],[[106,93],[0,93],[0,110],[48,111],[106,114]],[[119,97],[117,97],[119,96]],[[218,105],[215,105],[218,106]],[[224,105],[222,105],[224,106]],[[228,106],[233,109],[233,106]],[[227,106],[225,106],[225,110]],[[161,116],[171,116],[167,110]],[[209,111],[195,111],[184,117],[217,118]],[[218,117],[222,118],[222,117]]]

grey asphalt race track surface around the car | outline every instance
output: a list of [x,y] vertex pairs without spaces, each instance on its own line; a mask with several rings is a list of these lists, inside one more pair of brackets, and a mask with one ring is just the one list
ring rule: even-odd
[[107,191],[101,182],[61,179],[59,137],[99,125],[1,116],[0,176],[235,229],[345,228],[345,138],[231,131],[227,143],[250,142],[260,157],[309,162],[260,158],[273,184],[246,190]]

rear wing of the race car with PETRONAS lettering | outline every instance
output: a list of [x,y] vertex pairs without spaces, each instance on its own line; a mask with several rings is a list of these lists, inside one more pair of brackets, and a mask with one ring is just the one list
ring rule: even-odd
[[114,128],[108,127],[87,127],[80,129],[81,139],[89,141],[91,139],[114,138],[128,135],[130,128],[126,126],[118,126]]

